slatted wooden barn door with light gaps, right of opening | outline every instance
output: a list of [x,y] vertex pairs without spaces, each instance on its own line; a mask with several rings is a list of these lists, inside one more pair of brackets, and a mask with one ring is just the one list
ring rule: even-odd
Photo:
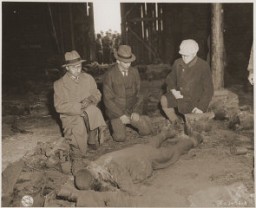
[[162,9],[156,3],[121,3],[123,43],[131,45],[137,63],[159,61]]

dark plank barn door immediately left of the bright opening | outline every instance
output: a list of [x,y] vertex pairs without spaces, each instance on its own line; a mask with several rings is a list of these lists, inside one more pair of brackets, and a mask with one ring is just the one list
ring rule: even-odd
[[[92,3],[50,3],[52,32],[60,54],[77,50],[86,60],[94,59]],[[54,34],[53,34],[54,35]]]

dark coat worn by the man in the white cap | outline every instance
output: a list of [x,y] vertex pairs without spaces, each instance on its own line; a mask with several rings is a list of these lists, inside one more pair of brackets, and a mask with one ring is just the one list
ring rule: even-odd
[[[178,107],[183,114],[191,113],[195,107],[203,112],[207,110],[213,96],[213,83],[210,66],[203,59],[195,57],[188,64],[182,58],[177,59],[167,76],[166,84],[169,107]],[[176,100],[171,89],[179,90],[183,98]]]

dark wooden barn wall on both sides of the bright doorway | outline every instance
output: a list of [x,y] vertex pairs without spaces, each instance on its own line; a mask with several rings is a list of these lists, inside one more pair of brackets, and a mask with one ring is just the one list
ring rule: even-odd
[[[224,4],[226,65],[244,70],[253,40],[253,4]],[[3,71],[40,71],[60,66],[65,51],[94,59],[93,3],[3,2]],[[206,58],[211,4],[121,3],[122,43],[132,46],[135,64],[170,63],[185,38],[194,38]],[[15,61],[13,61],[15,60]],[[238,64],[241,63],[241,64]]]

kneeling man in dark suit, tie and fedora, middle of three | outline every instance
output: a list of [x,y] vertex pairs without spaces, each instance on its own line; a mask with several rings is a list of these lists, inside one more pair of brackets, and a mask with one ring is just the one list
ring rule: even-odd
[[120,45],[114,56],[117,64],[110,68],[103,80],[103,101],[110,119],[113,139],[126,139],[125,125],[131,124],[141,135],[150,134],[150,120],[140,116],[143,98],[140,94],[140,76],[131,67],[136,57],[128,45]]

